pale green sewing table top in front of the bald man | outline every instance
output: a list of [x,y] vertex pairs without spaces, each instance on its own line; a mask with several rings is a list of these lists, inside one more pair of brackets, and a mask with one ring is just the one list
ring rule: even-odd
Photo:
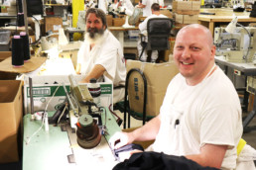
[[[49,131],[43,127],[33,137],[42,121],[31,121],[31,115],[24,116],[23,135],[23,168],[24,170],[70,170],[70,169],[112,169],[118,161],[114,159],[108,145],[109,138],[121,128],[114,117],[106,110],[102,113],[102,124],[107,127],[107,134],[102,135],[99,145],[92,149],[83,149],[76,142],[76,134],[68,124],[60,127],[49,126]],[[53,112],[49,116],[53,116]],[[30,141],[29,141],[30,137]],[[29,142],[28,142],[29,141]]]

